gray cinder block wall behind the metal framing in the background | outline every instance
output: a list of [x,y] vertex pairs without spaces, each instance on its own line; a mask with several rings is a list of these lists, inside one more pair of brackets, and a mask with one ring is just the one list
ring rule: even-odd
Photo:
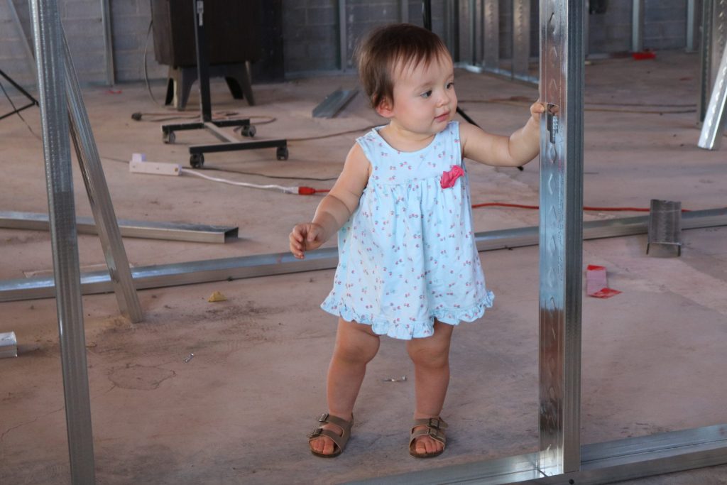
[[[10,1],[20,19],[20,28],[11,15],[7,0],[0,1],[0,69],[21,86],[33,89],[35,79],[24,47],[25,42],[32,47],[28,1]],[[111,7],[111,18],[107,21],[111,23],[113,73],[107,68],[103,1],[108,1]],[[468,1],[459,0],[459,4]],[[503,58],[509,57],[511,52],[508,39],[512,1],[499,0],[500,55]],[[643,47],[683,49],[686,46],[687,0],[644,1]],[[288,77],[350,70],[356,42],[375,25],[401,20],[422,25],[421,1],[346,0],[343,12],[345,39],[342,42],[339,0],[281,0],[281,4],[284,68]],[[606,12],[589,15],[588,51],[628,51],[631,47],[632,0],[607,0],[604,4]],[[156,63],[153,39],[148,36],[150,0],[58,0],[58,5],[81,84],[103,86],[109,79],[117,83],[142,81],[145,64],[150,79],[166,77],[167,66]],[[448,9],[453,11],[455,5],[457,1],[454,0],[433,0],[432,20],[433,30],[445,39],[453,52],[458,52],[459,45],[452,45],[457,44],[453,28],[445,22],[446,12]],[[531,0],[532,55],[537,55],[538,49],[537,9],[537,0]],[[7,83],[3,82],[3,86],[9,89]]]

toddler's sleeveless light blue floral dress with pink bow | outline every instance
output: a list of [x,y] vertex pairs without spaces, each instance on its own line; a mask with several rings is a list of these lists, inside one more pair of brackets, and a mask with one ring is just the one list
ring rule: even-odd
[[432,335],[435,318],[480,318],[494,294],[475,246],[459,124],[415,152],[396,151],[379,129],[357,140],[371,177],[338,233],[334,285],[321,308],[403,340]]

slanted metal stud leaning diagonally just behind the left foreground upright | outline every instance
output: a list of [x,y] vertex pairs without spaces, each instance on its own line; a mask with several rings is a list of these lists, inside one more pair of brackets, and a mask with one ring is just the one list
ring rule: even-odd
[[126,315],[130,321],[137,323],[142,321],[144,315],[139,303],[134,280],[129,271],[129,259],[126,257],[124,242],[121,241],[119,224],[116,222],[116,213],[111,203],[111,193],[108,191],[106,178],[101,167],[101,157],[96,148],[91,129],[89,116],[84,106],[81,87],[73,68],[71,51],[61,28],[61,39],[63,41],[66,95],[68,97],[68,116],[71,120],[71,140],[76,148],[76,156],[81,166],[81,175],[84,177],[86,193],[89,197],[91,212],[96,221],[96,229],[103,255],[108,267],[108,273],[113,283],[113,292],[116,294],[116,302],[119,310]]

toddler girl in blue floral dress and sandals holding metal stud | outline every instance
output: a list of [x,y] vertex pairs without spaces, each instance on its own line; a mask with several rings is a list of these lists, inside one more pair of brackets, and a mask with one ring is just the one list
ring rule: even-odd
[[406,340],[414,362],[414,457],[444,451],[440,417],[449,384],[449,343],[459,321],[491,307],[472,228],[463,159],[519,167],[539,151],[541,103],[510,137],[452,121],[454,67],[441,39],[409,24],[373,31],[357,52],[371,105],[388,124],[358,138],[311,223],[296,225],[302,259],[338,233],[334,286],[321,308],[338,316],[327,380],[328,412],[309,436],[321,457],[343,452],[353,405],[379,335]]

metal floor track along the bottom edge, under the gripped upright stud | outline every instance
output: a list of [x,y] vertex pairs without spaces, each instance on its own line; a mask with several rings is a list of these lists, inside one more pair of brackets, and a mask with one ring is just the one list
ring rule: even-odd
[[544,477],[537,453],[348,482],[348,485],[600,485],[727,463],[727,425],[582,446],[580,470]]

